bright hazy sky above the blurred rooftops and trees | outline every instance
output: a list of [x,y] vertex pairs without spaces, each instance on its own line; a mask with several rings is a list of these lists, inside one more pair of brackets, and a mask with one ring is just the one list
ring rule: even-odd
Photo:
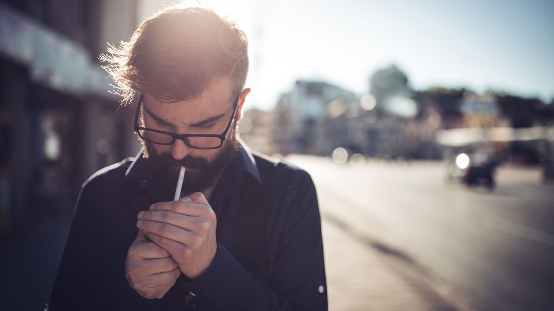
[[[141,0],[146,18],[161,3]],[[416,89],[554,97],[554,1],[213,0],[249,40],[247,108],[271,110],[298,79],[364,94],[396,64]]]

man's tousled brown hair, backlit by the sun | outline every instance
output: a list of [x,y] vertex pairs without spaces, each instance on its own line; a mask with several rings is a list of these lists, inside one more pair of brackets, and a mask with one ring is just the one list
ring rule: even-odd
[[198,99],[219,78],[233,81],[238,97],[248,72],[246,35],[212,9],[174,4],[143,21],[128,42],[110,45],[102,66],[121,95],[120,106],[136,92],[162,102]]

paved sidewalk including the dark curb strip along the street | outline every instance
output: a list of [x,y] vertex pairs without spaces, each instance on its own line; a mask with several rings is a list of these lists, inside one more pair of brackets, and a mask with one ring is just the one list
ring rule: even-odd
[[[329,310],[458,310],[378,228],[318,192]],[[384,243],[383,243],[384,242]],[[391,243],[390,245],[394,245]]]

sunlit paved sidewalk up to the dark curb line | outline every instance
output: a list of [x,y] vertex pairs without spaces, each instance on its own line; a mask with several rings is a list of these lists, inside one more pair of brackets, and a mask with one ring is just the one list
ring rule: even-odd
[[329,310],[456,310],[411,263],[322,223]]

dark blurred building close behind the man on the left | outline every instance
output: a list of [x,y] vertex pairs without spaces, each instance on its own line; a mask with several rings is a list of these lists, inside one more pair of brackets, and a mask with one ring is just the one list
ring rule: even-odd
[[[134,0],[0,2],[0,230],[72,211],[95,170],[136,154],[130,107],[96,62],[130,38]],[[117,111],[117,113],[116,113]]]

